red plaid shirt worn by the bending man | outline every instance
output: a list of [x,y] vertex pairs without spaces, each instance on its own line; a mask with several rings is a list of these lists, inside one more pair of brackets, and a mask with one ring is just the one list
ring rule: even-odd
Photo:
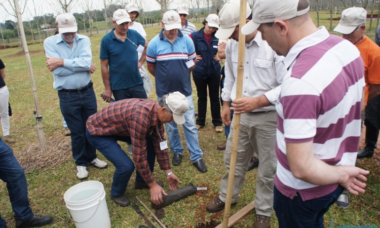
[[[146,134],[150,134],[162,170],[170,169],[168,150],[161,150],[164,126],[157,115],[158,103],[149,99],[124,99],[113,102],[87,120],[87,130],[95,136],[130,136],[133,162],[146,183],[155,179],[146,160]],[[159,132],[159,134],[158,134]],[[161,138],[160,138],[161,135]]]

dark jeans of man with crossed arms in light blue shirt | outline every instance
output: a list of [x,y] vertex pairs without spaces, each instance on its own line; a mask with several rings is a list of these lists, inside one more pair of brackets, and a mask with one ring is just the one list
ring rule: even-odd
[[87,166],[96,158],[96,150],[86,138],[86,121],[97,111],[94,88],[82,93],[58,91],[58,97],[63,117],[71,131],[72,157],[77,166]]

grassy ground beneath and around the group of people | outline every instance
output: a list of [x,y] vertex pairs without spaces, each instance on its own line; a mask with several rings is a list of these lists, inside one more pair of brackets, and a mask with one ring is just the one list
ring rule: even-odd
[[[321,21],[321,24],[328,25],[328,21]],[[335,21],[335,26],[337,21]],[[201,24],[196,23],[197,28]],[[146,28],[147,37],[151,39],[160,31],[160,27]],[[95,34],[91,37],[93,61],[97,65],[97,71],[92,75],[94,82],[95,93],[98,97],[98,109],[104,107],[104,103],[100,99],[100,93],[103,92],[103,84],[100,74],[99,48],[100,40],[104,34]],[[370,33],[373,37],[373,32]],[[37,95],[40,102],[41,114],[43,116],[44,132],[47,141],[67,140],[63,136],[62,118],[59,110],[59,103],[56,91],[53,89],[53,77],[50,71],[45,66],[45,54],[43,47],[39,44],[28,46],[34,78],[37,85]],[[21,154],[30,146],[36,147],[38,139],[36,137],[36,124],[33,116],[34,101],[31,93],[31,85],[29,73],[25,61],[25,56],[21,49],[13,48],[0,50],[0,58],[6,64],[6,83],[10,90],[10,102],[14,115],[11,117],[11,134],[17,140],[12,144],[15,155],[21,158]],[[153,79],[153,78],[152,78]],[[193,88],[194,85],[193,85]],[[196,96],[196,93],[194,93]],[[154,91],[151,91],[149,98],[156,99]],[[196,103],[196,98],[194,98]],[[182,142],[184,145],[183,135]],[[183,182],[182,185],[194,183],[196,186],[206,186],[207,191],[199,191],[197,195],[188,197],[180,202],[174,203],[165,208],[165,217],[162,219],[167,227],[213,227],[208,224],[218,224],[222,221],[223,214],[208,213],[205,206],[208,202],[218,196],[219,182],[221,175],[225,172],[223,166],[223,153],[216,150],[216,146],[224,142],[224,133],[218,134],[213,130],[211,118],[208,114],[205,128],[199,131],[199,141],[203,149],[203,159],[208,166],[208,172],[205,174],[199,173],[192,166],[189,160],[188,151],[185,150],[182,163],[179,167],[172,167],[174,172]],[[69,148],[69,144],[67,143]],[[56,148],[47,148],[44,153],[50,154]],[[31,155],[32,156],[32,155]],[[100,158],[104,158],[99,153]],[[171,158],[171,155],[170,155]],[[379,173],[379,156],[378,152],[375,155],[376,159],[366,159],[357,162],[357,165],[371,171],[368,180],[367,192],[358,197],[352,196],[352,205],[346,209],[338,209],[335,205],[325,216],[325,225],[328,226],[333,219],[335,227],[337,225],[347,224],[380,224],[380,204],[378,196],[380,195],[380,179]],[[44,161],[50,163],[50,160]],[[105,170],[98,170],[89,167],[89,180],[101,181],[106,191],[106,201],[108,205],[109,215],[112,227],[138,227],[144,224],[138,217],[132,207],[119,207],[110,199],[110,184],[114,168],[110,165]],[[67,216],[66,206],[63,200],[63,194],[72,185],[81,182],[75,177],[75,165],[73,161],[62,163],[55,168],[50,169],[35,169],[28,171],[26,176],[28,180],[29,199],[33,211],[37,214],[54,215],[52,225],[47,227],[75,227],[73,222]],[[246,204],[251,202],[255,196],[255,179],[256,170],[250,171],[247,174],[245,185],[241,191],[241,198],[236,206],[232,207],[231,212],[235,213]],[[156,166],[155,177],[165,183],[163,172]],[[135,196],[140,197],[145,204],[149,205],[149,191],[135,190],[133,188],[134,177],[128,183],[127,196],[135,203]],[[165,183],[165,189],[168,189]],[[142,206],[139,206],[143,209]],[[6,184],[0,182],[0,212],[7,220],[8,226],[14,226],[13,212],[8,200]],[[148,215],[148,212],[143,210]],[[277,227],[275,216],[272,216],[272,227]],[[154,221],[153,218],[150,218]],[[254,213],[250,213],[242,219],[234,227],[252,227],[254,221]],[[157,223],[155,223],[157,224]],[[158,225],[158,224],[157,224]]]

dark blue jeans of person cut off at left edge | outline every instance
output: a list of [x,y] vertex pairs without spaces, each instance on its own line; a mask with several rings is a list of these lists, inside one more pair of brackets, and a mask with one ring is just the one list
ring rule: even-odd
[[[7,183],[9,199],[14,217],[29,220],[33,216],[29,207],[28,188],[24,169],[20,166],[11,147],[0,138],[0,179]],[[5,220],[0,216],[0,227],[6,227]]]

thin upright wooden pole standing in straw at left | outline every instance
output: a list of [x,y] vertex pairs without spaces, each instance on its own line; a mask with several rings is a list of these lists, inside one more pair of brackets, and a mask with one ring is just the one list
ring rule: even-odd
[[30,81],[31,81],[31,86],[32,86],[32,91],[33,91],[34,106],[35,106],[35,119],[36,119],[36,124],[37,124],[37,136],[38,136],[39,141],[40,141],[41,150],[45,150],[46,141],[45,141],[44,129],[42,126],[42,116],[40,115],[40,104],[39,104],[39,99],[37,98],[37,89],[35,86],[34,74],[33,74],[33,69],[32,69],[32,65],[31,65],[28,45],[26,44],[25,31],[24,31],[24,26],[22,24],[20,6],[18,3],[18,0],[14,0],[14,2],[15,2],[15,9],[16,9],[16,15],[17,15],[17,23],[18,23],[18,26],[20,28],[20,39],[21,39],[22,49],[24,50],[26,62],[28,63]]

